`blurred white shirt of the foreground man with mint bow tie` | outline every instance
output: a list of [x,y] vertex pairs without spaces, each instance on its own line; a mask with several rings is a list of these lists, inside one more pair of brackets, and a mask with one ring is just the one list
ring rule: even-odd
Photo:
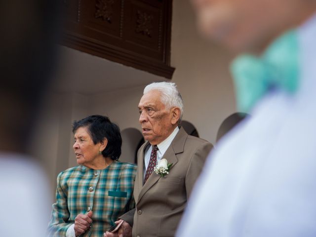
[[316,16],[298,34],[299,91],[271,92],[219,142],[178,237],[316,236]]

